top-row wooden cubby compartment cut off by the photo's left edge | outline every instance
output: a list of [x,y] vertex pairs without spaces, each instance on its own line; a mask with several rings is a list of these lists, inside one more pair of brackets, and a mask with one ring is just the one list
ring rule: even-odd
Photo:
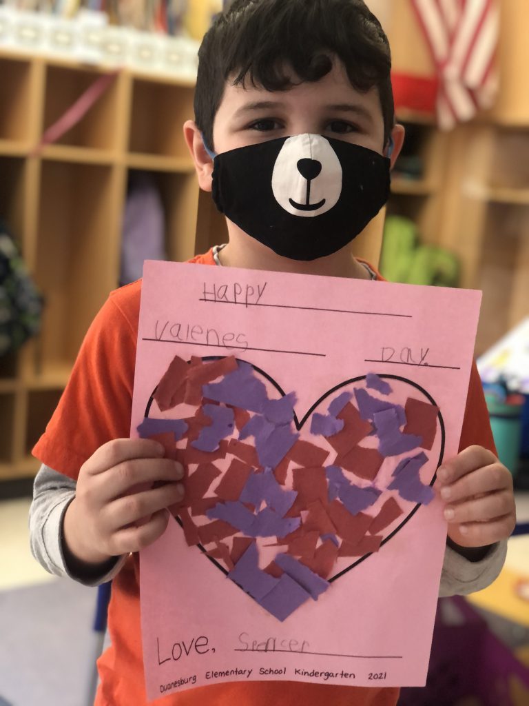
[[32,64],[24,59],[0,58],[0,140],[25,143],[32,138]]

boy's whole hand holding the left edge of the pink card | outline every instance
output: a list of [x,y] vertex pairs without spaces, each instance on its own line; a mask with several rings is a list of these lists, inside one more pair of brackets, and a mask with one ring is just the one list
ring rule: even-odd
[[156,441],[116,439],[83,464],[63,525],[73,561],[99,565],[164,533],[166,508],[183,498],[183,485],[176,482],[183,467],[163,455]]

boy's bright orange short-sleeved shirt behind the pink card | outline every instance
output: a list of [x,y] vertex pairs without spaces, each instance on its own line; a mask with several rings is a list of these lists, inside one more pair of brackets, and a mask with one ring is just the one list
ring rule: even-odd
[[[214,265],[212,251],[190,262]],[[382,277],[378,277],[382,280]],[[130,436],[141,281],[112,292],[90,326],[70,381],[33,454],[77,479],[83,463],[102,444]],[[478,371],[473,366],[460,449],[494,450]],[[130,555],[112,582],[111,647],[99,659],[96,706],[145,704],[140,633],[139,561]],[[153,702],[160,706],[394,706],[397,688],[358,688],[303,682],[234,682],[195,688]]]

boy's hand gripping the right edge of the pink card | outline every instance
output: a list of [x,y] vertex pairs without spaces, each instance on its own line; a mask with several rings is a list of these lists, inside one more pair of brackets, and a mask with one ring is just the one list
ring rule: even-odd
[[469,446],[437,470],[448,536],[463,547],[506,539],[516,525],[512,475],[492,451]]

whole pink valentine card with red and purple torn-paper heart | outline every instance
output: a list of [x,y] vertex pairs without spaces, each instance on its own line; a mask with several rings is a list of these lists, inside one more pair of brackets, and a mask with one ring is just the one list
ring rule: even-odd
[[149,262],[133,436],[186,470],[140,554],[147,695],[425,683],[480,293]]

